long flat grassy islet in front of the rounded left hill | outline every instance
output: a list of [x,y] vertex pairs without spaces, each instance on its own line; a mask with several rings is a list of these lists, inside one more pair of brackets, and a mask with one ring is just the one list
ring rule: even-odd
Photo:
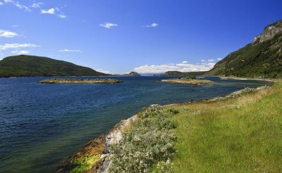
[[44,79],[40,84],[115,84],[123,81],[117,79]]

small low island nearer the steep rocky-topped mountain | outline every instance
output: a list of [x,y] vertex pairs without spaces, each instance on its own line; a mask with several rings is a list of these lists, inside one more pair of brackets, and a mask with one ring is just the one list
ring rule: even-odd
[[176,79],[162,79],[161,82],[173,83],[173,84],[192,84],[193,86],[212,83],[206,79],[196,79],[195,77],[180,77]]

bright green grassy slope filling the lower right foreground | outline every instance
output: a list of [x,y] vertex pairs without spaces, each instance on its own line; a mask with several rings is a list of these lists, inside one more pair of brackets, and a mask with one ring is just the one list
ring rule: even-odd
[[180,113],[171,172],[282,172],[282,82],[212,103],[168,105]]

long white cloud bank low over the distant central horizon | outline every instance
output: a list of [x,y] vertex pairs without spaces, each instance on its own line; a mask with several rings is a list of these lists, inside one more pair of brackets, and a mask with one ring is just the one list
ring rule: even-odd
[[180,72],[198,72],[208,71],[214,67],[215,63],[201,63],[201,64],[190,64],[190,63],[176,63],[176,64],[164,64],[164,65],[142,65],[138,68],[134,68],[135,72],[141,74],[145,73],[164,73],[167,71],[180,71]]

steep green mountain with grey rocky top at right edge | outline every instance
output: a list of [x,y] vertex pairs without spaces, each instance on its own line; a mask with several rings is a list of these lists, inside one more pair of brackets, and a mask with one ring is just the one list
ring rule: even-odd
[[268,25],[254,42],[230,53],[205,75],[282,77],[282,20]]

